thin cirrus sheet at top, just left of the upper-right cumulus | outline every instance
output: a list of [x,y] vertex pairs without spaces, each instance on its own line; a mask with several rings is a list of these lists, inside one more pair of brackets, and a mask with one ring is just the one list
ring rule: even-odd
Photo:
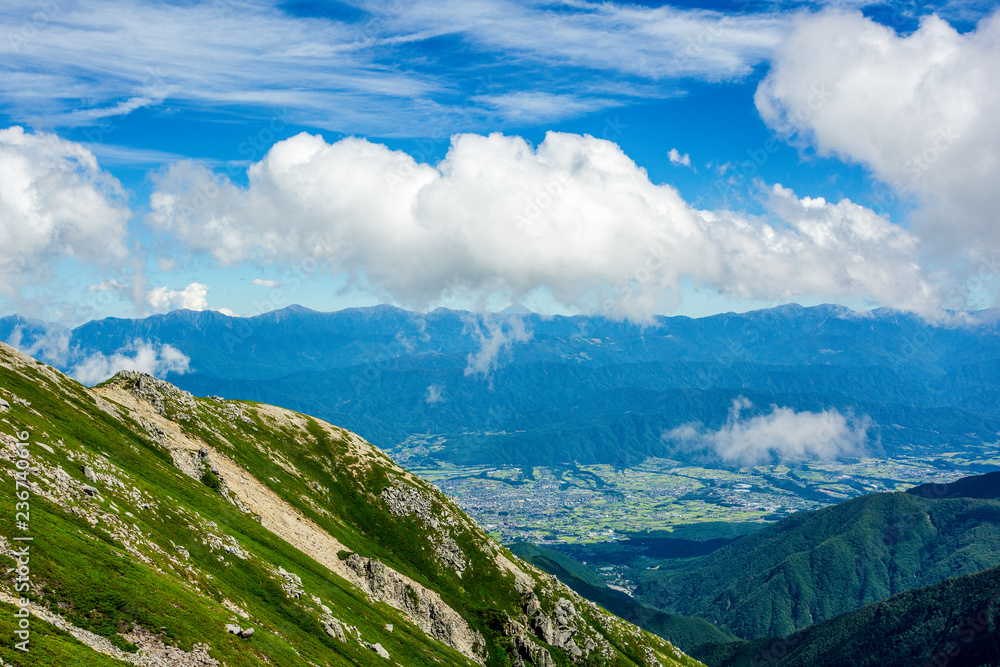
[[423,0],[405,3],[391,25],[461,35],[477,49],[532,62],[649,79],[723,81],[747,74],[766,58],[788,18],[779,12],[727,15],[611,2]]

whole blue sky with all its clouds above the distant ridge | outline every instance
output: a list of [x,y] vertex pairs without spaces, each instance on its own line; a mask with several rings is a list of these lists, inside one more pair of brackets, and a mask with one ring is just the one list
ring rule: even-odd
[[0,310],[995,306],[998,35],[974,2],[7,2]]

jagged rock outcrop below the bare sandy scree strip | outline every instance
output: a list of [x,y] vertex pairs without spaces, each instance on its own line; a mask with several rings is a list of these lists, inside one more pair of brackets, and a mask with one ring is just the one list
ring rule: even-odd
[[441,596],[377,560],[351,554],[344,561],[353,583],[372,600],[404,612],[418,628],[462,654],[482,662],[483,636],[469,627]]

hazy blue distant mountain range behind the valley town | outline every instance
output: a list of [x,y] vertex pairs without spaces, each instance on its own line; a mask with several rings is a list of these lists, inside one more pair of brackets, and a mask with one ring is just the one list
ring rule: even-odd
[[[940,326],[888,310],[789,305],[642,325],[293,306],[73,330],[12,316],[0,319],[0,340],[67,371],[136,340],[169,344],[190,358],[190,372],[168,376],[178,386],[305,411],[388,449],[406,443],[411,465],[628,465],[695,457],[664,434],[692,422],[722,428],[740,397],[752,403],[743,418],[772,406],[869,418],[875,453],[981,451],[1000,432],[1000,319],[973,319]],[[48,356],[45,340],[54,341]]]

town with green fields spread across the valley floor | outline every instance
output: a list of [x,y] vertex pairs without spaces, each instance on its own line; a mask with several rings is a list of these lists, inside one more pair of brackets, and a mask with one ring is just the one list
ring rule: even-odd
[[[404,462],[404,451],[392,452]],[[455,499],[501,542],[611,542],[703,522],[768,522],[879,491],[953,481],[967,466],[1000,464],[1000,451],[720,469],[647,459],[628,468],[410,469]]]

